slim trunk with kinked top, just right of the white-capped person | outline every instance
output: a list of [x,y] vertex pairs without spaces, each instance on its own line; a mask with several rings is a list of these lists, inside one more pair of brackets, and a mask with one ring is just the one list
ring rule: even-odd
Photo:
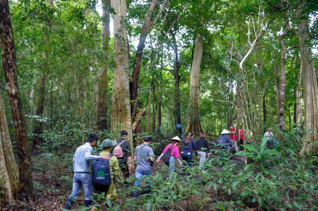
[[280,85],[278,91],[278,128],[283,132],[286,131],[285,126],[285,90],[286,90],[286,71],[285,71],[285,63],[286,63],[286,53],[287,47],[284,42],[284,38],[290,31],[290,25],[286,24],[286,29],[282,35],[279,37],[280,45],[281,45],[281,54],[280,54]]

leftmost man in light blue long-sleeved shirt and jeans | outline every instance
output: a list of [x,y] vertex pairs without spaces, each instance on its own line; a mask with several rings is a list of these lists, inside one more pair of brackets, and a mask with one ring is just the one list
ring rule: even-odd
[[108,155],[93,155],[93,147],[96,146],[98,137],[95,133],[91,133],[87,137],[87,142],[76,149],[73,155],[73,189],[70,197],[67,199],[64,209],[71,209],[76,200],[80,187],[84,189],[85,202],[84,205],[89,207],[92,203],[92,180],[89,174],[89,164],[91,160],[97,158],[110,159]]

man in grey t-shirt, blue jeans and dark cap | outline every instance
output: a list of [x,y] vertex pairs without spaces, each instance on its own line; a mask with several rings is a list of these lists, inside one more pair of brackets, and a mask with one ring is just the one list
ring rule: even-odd
[[[132,192],[133,197],[138,197],[139,191],[137,190],[142,178],[142,175],[151,175],[151,166],[150,161],[155,160],[155,154],[152,148],[149,146],[151,141],[150,137],[146,137],[143,139],[143,144],[139,145],[135,149],[134,160],[136,160],[136,181],[134,184],[134,190]],[[146,178],[149,180],[149,178]],[[150,188],[151,182],[150,180],[147,182],[147,190],[146,193],[149,194],[151,192]]]

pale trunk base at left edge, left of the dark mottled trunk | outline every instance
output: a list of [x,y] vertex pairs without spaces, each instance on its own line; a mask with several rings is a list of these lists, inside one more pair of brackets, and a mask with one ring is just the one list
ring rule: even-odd
[[11,145],[7,119],[0,87],[0,189],[3,191],[1,202],[10,204],[18,188],[19,172]]

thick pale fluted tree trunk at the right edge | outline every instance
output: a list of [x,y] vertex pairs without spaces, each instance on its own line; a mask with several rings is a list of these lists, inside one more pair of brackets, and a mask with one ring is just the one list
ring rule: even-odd
[[301,18],[298,24],[298,39],[301,44],[301,69],[303,74],[303,89],[304,89],[304,105],[305,105],[305,126],[314,131],[313,135],[307,134],[304,139],[304,146],[301,149],[301,154],[309,153],[314,150],[315,144],[318,141],[318,85],[317,77],[312,59],[309,43],[308,16],[299,15]]

